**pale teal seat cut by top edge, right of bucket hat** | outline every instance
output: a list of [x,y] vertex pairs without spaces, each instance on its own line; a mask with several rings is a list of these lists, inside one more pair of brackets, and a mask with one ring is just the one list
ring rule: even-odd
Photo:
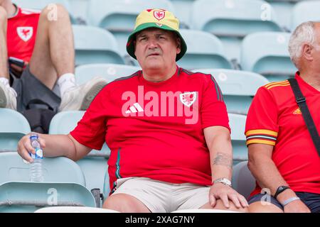
[[272,6],[260,0],[194,1],[191,28],[218,36],[228,59],[240,59],[245,35],[258,31],[281,31]]

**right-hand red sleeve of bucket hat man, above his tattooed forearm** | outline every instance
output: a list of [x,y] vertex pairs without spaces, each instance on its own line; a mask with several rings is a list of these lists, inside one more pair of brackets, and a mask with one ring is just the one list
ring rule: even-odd
[[212,75],[206,76],[206,83],[201,102],[202,128],[210,126],[223,126],[228,128],[229,118],[223,94]]

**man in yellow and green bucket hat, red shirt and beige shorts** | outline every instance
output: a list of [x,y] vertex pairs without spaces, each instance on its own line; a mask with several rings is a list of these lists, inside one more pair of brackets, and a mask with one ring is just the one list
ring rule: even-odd
[[[44,154],[78,160],[106,142],[106,209],[245,211],[247,201],[230,184],[233,155],[223,96],[210,74],[176,65],[186,52],[178,19],[162,9],[142,11],[127,52],[142,71],[102,89],[69,135],[40,135]],[[33,152],[25,136],[18,153],[32,161],[28,150]]]

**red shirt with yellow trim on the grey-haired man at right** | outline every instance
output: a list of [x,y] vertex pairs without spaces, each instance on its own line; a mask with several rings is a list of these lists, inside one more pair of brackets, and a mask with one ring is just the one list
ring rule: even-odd
[[[296,74],[317,130],[320,92]],[[245,128],[247,145],[274,145],[272,160],[294,192],[320,194],[320,157],[297,105],[289,81],[261,87],[252,101]],[[252,196],[261,192],[257,185]]]

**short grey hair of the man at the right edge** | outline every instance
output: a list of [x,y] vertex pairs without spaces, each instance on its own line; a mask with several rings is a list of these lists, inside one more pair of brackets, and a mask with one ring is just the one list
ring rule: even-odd
[[289,40],[290,58],[294,65],[299,69],[298,60],[302,56],[302,47],[304,44],[309,44],[314,48],[318,48],[316,44],[315,22],[307,21],[294,30]]

